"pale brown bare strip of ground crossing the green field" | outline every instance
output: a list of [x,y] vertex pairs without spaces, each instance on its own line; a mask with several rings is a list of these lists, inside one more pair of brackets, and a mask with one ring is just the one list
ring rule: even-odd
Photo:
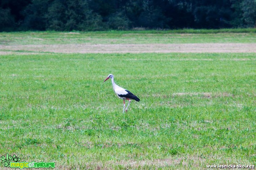
[[[40,53],[256,53],[256,43],[0,45],[0,55]],[[13,50],[13,52],[12,52]],[[8,51],[8,52],[6,52]]]

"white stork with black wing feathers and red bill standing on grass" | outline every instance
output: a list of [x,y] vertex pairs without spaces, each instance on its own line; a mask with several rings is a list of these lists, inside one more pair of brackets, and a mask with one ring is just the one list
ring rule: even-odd
[[[131,100],[136,100],[137,102],[140,101],[139,98],[138,98],[136,95],[132,94],[132,92],[130,92],[130,91],[128,91],[128,90],[126,90],[126,89],[124,89],[124,88],[118,86],[118,85],[114,82],[114,76],[113,76],[113,74],[109,74],[109,76],[104,80],[104,82],[105,82],[107,79],[109,79],[109,78],[111,78],[111,82],[112,82],[112,85],[113,85],[113,90],[114,90],[114,92],[117,94],[117,96],[118,96],[119,98],[123,99],[123,100],[129,100],[129,103],[128,103],[128,105],[127,105],[127,108],[128,108],[128,106],[130,105]],[[104,83],[104,82],[103,82],[103,83]],[[124,108],[125,108],[125,101],[124,101]],[[127,112],[127,108],[125,109],[125,112]],[[124,109],[123,109],[123,113],[124,113]]]

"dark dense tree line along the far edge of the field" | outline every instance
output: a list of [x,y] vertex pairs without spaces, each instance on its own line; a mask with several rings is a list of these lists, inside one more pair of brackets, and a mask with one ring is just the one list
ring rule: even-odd
[[0,31],[256,27],[256,0],[1,0]]

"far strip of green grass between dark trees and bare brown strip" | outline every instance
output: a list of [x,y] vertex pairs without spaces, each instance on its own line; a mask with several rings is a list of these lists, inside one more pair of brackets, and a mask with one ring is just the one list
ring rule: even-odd
[[255,43],[256,29],[1,32],[0,45],[41,44],[148,44],[148,43]]

